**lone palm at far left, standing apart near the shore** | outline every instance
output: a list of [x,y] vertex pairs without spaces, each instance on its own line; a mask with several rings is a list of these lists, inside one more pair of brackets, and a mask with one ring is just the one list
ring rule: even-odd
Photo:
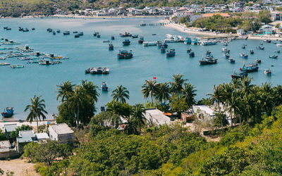
[[27,121],[32,122],[36,120],[37,122],[37,132],[38,132],[38,119],[41,121],[40,117],[42,116],[43,120],[46,119],[44,113],[48,114],[47,111],[44,110],[45,108],[45,101],[44,99],[40,99],[41,96],[33,96],[31,99],[31,104],[25,107],[25,112],[27,110],[30,113],[27,115]]

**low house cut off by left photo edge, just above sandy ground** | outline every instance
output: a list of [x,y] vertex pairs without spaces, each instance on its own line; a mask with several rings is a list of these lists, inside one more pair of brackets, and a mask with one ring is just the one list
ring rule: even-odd
[[16,158],[19,156],[18,151],[16,149],[11,148],[11,144],[9,140],[0,141],[0,158]]

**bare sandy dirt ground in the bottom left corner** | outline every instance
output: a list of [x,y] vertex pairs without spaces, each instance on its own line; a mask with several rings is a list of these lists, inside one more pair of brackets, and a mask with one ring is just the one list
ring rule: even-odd
[[39,175],[33,168],[34,163],[27,163],[26,160],[13,159],[11,161],[0,161],[0,168],[6,172],[13,172],[14,175]]

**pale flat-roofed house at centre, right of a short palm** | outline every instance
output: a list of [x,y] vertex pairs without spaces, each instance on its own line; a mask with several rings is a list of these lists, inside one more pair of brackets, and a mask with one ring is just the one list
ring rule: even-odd
[[168,116],[164,115],[163,112],[159,111],[159,109],[156,108],[147,109],[144,113],[144,116],[149,123],[154,125],[164,125],[171,123],[171,118],[168,118]]

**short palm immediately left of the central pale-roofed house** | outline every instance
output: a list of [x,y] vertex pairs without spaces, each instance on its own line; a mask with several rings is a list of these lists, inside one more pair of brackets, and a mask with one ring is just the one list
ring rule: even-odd
[[137,125],[137,128],[140,129],[145,125],[145,108],[142,104],[138,103],[133,106],[133,111],[131,112],[132,118],[135,118],[135,122]]

